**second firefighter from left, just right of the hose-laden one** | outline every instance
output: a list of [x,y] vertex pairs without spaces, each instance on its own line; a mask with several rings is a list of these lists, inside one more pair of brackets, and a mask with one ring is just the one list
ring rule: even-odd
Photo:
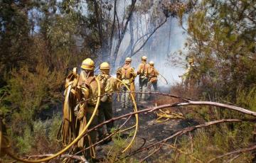
[[[110,64],[107,62],[103,62],[100,64],[100,74],[97,76],[105,89],[105,94],[101,98],[98,123],[102,123],[105,120],[110,120],[113,117],[112,111],[112,93],[113,91],[117,91],[117,80],[115,80],[110,75]],[[107,123],[107,134],[110,133],[111,128],[113,128],[114,122]],[[106,135],[103,132],[103,128],[99,128],[98,130],[99,139],[102,139],[103,135]]]

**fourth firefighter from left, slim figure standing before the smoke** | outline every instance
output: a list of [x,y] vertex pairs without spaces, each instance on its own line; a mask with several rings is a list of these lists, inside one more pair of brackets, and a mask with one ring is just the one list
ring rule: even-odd
[[[146,92],[148,84],[148,68],[149,64],[146,64],[146,56],[142,56],[142,63],[139,64],[137,74],[139,74],[139,91]],[[139,100],[144,103],[146,94],[139,94]]]

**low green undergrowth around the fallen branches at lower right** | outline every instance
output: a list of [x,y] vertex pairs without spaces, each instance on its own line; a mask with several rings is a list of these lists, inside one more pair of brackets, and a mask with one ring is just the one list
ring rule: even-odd
[[[172,89],[173,94],[181,94],[181,89]],[[188,93],[191,94],[191,93]],[[193,94],[193,93],[192,93]],[[209,100],[208,97],[196,97],[198,99]],[[221,98],[223,100],[223,98]],[[228,101],[226,99],[225,101]],[[241,106],[249,110],[256,109],[256,87],[252,89],[238,90],[236,106]],[[230,103],[228,103],[230,104]],[[197,119],[201,122],[225,118],[252,118],[245,116],[242,113],[230,111],[224,108],[216,108],[211,106],[193,106],[186,107],[189,111],[186,113],[186,118]],[[210,159],[220,155],[241,150],[255,144],[255,124],[250,122],[240,123],[221,123],[212,125],[208,128],[198,129],[192,132],[191,135],[183,135],[178,137],[178,141],[167,149],[172,150],[171,156],[164,154],[157,159],[168,160],[167,162],[208,162]],[[242,152],[238,154],[230,154],[221,159],[215,159],[213,162],[252,162],[255,159],[255,154],[252,152]]]

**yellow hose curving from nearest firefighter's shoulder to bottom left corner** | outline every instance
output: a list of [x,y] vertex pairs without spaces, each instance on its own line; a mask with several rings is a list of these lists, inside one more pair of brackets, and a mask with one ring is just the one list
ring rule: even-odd
[[80,135],[78,135],[78,137],[75,138],[75,140],[73,140],[73,142],[71,142],[67,147],[65,147],[63,150],[60,150],[59,152],[57,152],[56,154],[53,154],[53,156],[50,156],[50,157],[46,157],[46,158],[43,158],[43,159],[33,159],[33,160],[29,160],[29,159],[21,159],[21,158],[18,158],[16,156],[14,156],[14,154],[11,154],[10,152],[7,152],[7,154],[13,158],[13,159],[16,159],[20,162],[47,162],[49,161],[50,159],[54,159],[55,157],[58,157],[60,154],[63,154],[65,151],[67,151],[70,147],[72,147],[73,145],[75,145],[75,143],[78,142],[78,140],[80,140],[80,138],[85,134],[87,128],[89,127],[90,123],[92,123],[92,120],[93,118],[95,118],[95,115],[96,115],[96,112],[97,112],[97,108],[99,107],[100,105],[100,81],[95,78],[96,81],[97,81],[97,87],[98,87],[98,96],[97,96],[97,103],[96,103],[96,106],[95,106],[95,110],[93,111],[92,113],[92,117],[90,118],[90,120],[88,121],[88,123],[86,124],[85,128],[82,130],[82,133]]

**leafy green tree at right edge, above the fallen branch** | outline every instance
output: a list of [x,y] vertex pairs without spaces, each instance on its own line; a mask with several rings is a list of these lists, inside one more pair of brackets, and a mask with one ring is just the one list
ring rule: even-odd
[[[202,1],[188,18],[187,56],[203,84],[235,98],[256,83],[255,1]],[[216,85],[216,83],[218,83]]]

